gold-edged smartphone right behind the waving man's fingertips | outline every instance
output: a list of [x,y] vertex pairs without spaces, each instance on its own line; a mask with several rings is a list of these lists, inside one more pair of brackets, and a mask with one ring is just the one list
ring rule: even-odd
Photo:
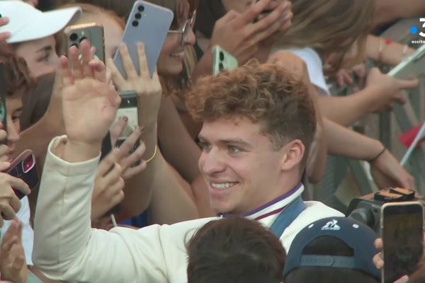
[[67,42],[67,54],[69,47],[79,48],[83,40],[89,40],[91,46],[96,47],[96,57],[105,62],[105,37],[103,25],[100,23],[83,23],[80,25],[69,25],[64,30],[65,42]]

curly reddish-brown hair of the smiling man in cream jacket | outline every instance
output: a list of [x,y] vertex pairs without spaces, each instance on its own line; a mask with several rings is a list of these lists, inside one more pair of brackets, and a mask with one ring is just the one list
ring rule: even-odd
[[193,86],[187,103],[195,120],[241,116],[259,123],[276,150],[300,139],[305,165],[316,129],[314,105],[305,85],[282,67],[251,60],[234,71],[206,76]]

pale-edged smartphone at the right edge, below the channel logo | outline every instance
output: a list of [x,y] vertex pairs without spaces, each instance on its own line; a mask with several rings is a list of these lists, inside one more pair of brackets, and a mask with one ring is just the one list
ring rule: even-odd
[[388,72],[388,76],[396,79],[417,78],[425,71],[425,45],[421,45],[413,54],[400,62]]

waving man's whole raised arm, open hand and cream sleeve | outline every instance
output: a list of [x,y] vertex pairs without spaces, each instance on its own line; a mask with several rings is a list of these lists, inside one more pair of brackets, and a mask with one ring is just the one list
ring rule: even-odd
[[65,57],[60,60],[67,137],[53,139],[47,151],[35,212],[35,265],[50,279],[67,282],[180,282],[170,279],[174,275],[166,261],[181,267],[179,279],[186,275],[184,239],[208,219],[178,225],[174,231],[157,225],[138,231],[91,229],[91,192],[101,143],[120,98],[106,82],[102,62],[86,63],[94,71],[85,68],[79,77]]

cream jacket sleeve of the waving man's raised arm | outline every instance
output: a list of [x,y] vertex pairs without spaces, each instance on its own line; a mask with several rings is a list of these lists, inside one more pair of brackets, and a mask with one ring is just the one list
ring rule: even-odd
[[159,226],[143,232],[91,229],[98,158],[63,161],[51,149],[64,140],[53,139],[47,151],[35,212],[34,264],[47,277],[67,282],[167,282]]

